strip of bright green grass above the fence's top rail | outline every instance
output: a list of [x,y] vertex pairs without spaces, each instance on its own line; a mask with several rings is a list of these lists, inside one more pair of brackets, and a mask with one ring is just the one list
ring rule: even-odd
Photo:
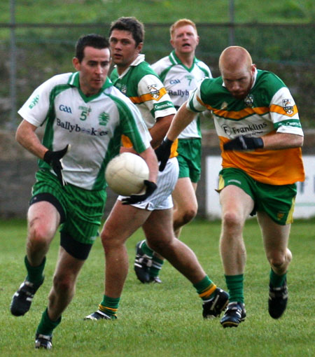
[[[202,10],[200,10],[202,9]],[[189,17],[195,22],[229,22],[229,1],[221,0],[16,0],[17,22],[111,22],[135,16],[143,22],[174,22]],[[313,0],[235,0],[235,21],[311,22]],[[0,3],[0,22],[10,21],[10,1]]]

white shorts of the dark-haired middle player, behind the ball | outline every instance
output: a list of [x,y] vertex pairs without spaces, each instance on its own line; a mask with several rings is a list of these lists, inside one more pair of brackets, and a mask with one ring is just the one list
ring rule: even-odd
[[[174,207],[172,200],[172,192],[179,179],[179,162],[176,158],[169,159],[165,169],[158,173],[158,188],[146,200],[132,206],[139,209],[171,209]],[[123,200],[125,196],[118,196],[118,200]]]

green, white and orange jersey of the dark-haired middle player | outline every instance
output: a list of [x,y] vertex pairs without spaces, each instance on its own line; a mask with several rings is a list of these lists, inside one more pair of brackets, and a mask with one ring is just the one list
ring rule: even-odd
[[115,67],[110,77],[113,85],[136,104],[148,129],[155,125],[157,118],[176,113],[165,86],[144,55],[138,55],[120,76]]

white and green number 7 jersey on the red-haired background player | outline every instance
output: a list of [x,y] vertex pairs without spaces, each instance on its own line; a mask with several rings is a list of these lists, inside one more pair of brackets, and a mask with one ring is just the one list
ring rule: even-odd
[[[160,76],[176,109],[186,102],[189,92],[197,87],[200,80],[205,77],[212,78],[207,64],[195,57],[193,65],[188,68],[176,56],[175,51],[152,64],[152,68]],[[190,138],[201,138],[200,118],[198,117],[179,135],[179,139]]]

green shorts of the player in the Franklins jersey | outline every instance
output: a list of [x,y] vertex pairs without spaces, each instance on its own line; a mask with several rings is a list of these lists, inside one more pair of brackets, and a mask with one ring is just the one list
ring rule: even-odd
[[272,221],[279,225],[293,222],[296,184],[292,185],[267,185],[255,181],[241,169],[228,168],[219,172],[219,190],[225,186],[235,185],[244,190],[255,202],[251,216],[256,211],[265,211]]

